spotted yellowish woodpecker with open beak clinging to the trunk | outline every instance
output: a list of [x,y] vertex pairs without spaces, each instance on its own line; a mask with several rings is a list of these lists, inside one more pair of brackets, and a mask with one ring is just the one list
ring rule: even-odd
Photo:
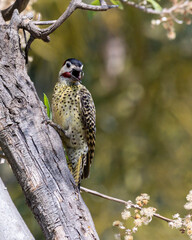
[[76,185],[89,176],[94,157],[96,110],[87,88],[81,84],[83,64],[67,59],[60,72],[52,97],[53,122],[60,126],[60,136],[67,164]]

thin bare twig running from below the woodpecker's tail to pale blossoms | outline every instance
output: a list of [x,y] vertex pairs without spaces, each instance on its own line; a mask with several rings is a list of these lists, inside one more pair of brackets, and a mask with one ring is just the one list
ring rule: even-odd
[[[95,196],[98,196],[98,197],[101,197],[101,198],[110,200],[110,201],[114,201],[114,202],[121,203],[121,204],[127,205],[127,203],[128,203],[128,201],[125,201],[125,200],[122,200],[122,199],[119,199],[119,198],[110,197],[110,196],[108,196],[108,195],[99,193],[99,192],[94,191],[94,190],[90,190],[90,189],[85,188],[85,187],[80,187],[80,190],[83,191],[83,192],[90,193],[90,194],[92,194],[92,195],[95,195]],[[131,205],[132,208],[135,208],[135,209],[138,209],[138,210],[141,210],[141,209],[142,209],[142,208],[139,207],[137,204],[131,203],[130,205]],[[158,214],[158,213],[154,213],[153,216],[154,216],[154,217],[157,217],[157,218],[160,218],[161,220],[164,220],[164,221],[166,221],[166,222],[172,222],[172,221],[173,221],[173,220],[171,220],[170,218],[166,218],[166,217],[164,217],[164,216],[161,216],[161,215]]]

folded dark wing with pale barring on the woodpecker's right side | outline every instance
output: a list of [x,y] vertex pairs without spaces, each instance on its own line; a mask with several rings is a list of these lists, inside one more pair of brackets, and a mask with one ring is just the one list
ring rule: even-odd
[[89,168],[95,152],[96,110],[92,96],[86,88],[81,88],[79,95],[82,121],[86,131],[88,145],[86,165],[84,166],[82,177],[87,178],[89,176]]

